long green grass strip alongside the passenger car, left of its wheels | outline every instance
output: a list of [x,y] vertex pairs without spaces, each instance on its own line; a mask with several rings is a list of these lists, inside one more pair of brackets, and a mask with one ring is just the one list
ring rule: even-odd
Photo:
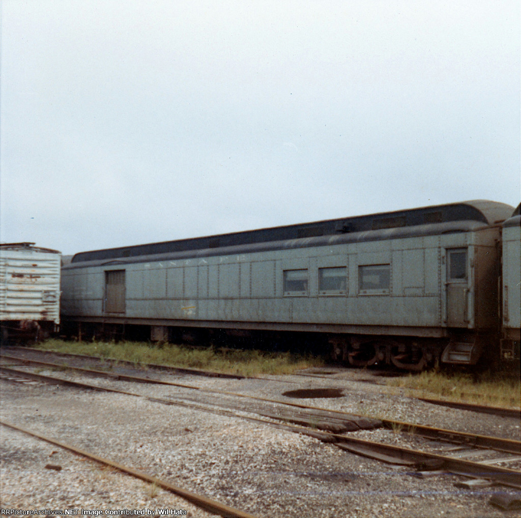
[[57,352],[126,360],[135,364],[156,363],[243,376],[291,374],[303,368],[324,364],[324,359],[319,356],[297,355],[289,352],[272,353],[256,349],[192,348],[170,343],[71,342],[51,339],[36,347]]

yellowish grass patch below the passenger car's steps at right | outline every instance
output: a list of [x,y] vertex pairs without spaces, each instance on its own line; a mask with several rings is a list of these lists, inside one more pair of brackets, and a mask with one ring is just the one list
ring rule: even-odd
[[[387,381],[389,386],[411,389],[415,396],[490,406],[519,408],[519,376],[504,372],[468,374],[425,371]],[[419,392],[419,394],[418,394]]]

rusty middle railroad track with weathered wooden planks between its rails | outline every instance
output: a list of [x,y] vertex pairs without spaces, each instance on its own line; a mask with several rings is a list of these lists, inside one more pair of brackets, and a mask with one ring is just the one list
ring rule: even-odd
[[[277,411],[267,411],[266,409],[239,408],[241,412],[250,412],[261,415],[267,419],[259,419],[255,417],[238,414],[236,411],[223,408],[222,402],[219,404],[206,401],[204,404],[187,401],[177,397],[172,398],[155,398],[144,396],[143,394],[117,390],[109,387],[100,387],[97,385],[89,385],[79,383],[78,381],[64,380],[52,376],[43,376],[18,369],[2,367],[1,372],[4,376],[18,376],[19,378],[28,377],[29,379],[37,379],[46,383],[63,384],[75,386],[79,388],[88,388],[94,390],[104,390],[109,392],[123,393],[129,396],[145,397],[148,400],[163,403],[188,406],[198,410],[207,412],[218,412],[222,415],[233,416],[237,418],[245,418],[278,428],[284,428],[295,433],[303,433],[313,436],[319,440],[333,443],[341,449],[364,455],[383,462],[401,464],[405,466],[414,466],[419,473],[426,470],[443,470],[444,472],[455,473],[472,477],[473,479],[487,480],[490,483],[504,484],[509,487],[521,489],[521,471],[512,469],[499,464],[517,464],[521,461],[519,453],[521,453],[521,442],[497,437],[479,436],[475,434],[466,434],[453,430],[442,430],[432,427],[425,427],[411,423],[399,423],[396,421],[381,421],[381,425],[400,431],[408,431],[410,434],[429,438],[430,443],[424,445],[423,450],[413,450],[389,445],[388,443],[375,442],[363,439],[357,439],[342,433],[349,433],[348,430],[354,429],[371,429],[377,425],[373,420],[368,420],[364,416],[355,416],[345,412],[329,411],[317,407],[300,405],[296,403],[287,403],[278,400],[269,400],[266,398],[254,398],[226,391],[214,391],[201,389],[193,386],[184,386],[184,388],[197,388],[197,394],[220,394],[226,396],[237,396],[238,398],[247,398],[257,402],[268,402],[271,404],[282,405],[282,408],[292,406],[299,408],[299,412],[284,412],[280,408]],[[106,374],[106,373],[104,373]],[[149,380],[150,381],[150,380]],[[154,380],[151,383],[155,383]],[[176,384],[174,384],[176,385]],[[232,405],[235,410],[236,405]],[[365,420],[365,421],[364,421]],[[277,421],[279,423],[277,423]],[[282,421],[282,424],[280,423]],[[331,431],[337,430],[338,433]],[[455,447],[447,448],[446,443],[455,444]],[[497,451],[504,452],[498,458]],[[480,457],[480,461],[468,460],[470,457]]]

